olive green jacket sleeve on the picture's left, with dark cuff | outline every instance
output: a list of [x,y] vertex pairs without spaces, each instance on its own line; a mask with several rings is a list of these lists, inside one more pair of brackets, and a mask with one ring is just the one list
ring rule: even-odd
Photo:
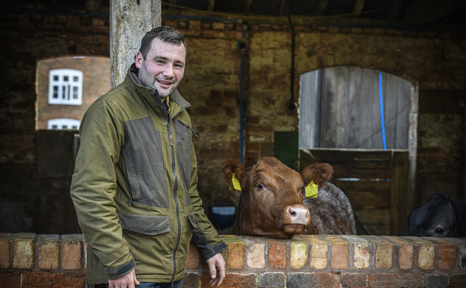
[[122,237],[115,201],[117,164],[124,143],[121,114],[107,100],[97,100],[80,126],[80,148],[71,181],[71,198],[86,241],[100,258],[107,278],[135,268]]

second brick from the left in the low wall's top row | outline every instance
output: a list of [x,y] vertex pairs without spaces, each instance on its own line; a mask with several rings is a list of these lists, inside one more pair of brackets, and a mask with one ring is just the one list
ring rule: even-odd
[[32,269],[34,266],[34,239],[36,234],[19,233],[13,241],[13,267]]

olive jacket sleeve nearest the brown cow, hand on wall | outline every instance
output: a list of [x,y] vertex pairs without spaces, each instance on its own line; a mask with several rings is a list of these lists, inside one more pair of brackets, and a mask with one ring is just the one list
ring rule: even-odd
[[208,260],[215,256],[215,254],[222,252],[226,248],[226,244],[218,236],[217,230],[213,228],[209,219],[207,219],[207,215],[202,208],[202,200],[199,197],[197,186],[198,166],[194,144],[191,141],[191,186],[189,187],[189,196],[191,197],[191,205],[194,208],[196,224],[198,226],[193,230],[192,242],[198,248],[202,258]]

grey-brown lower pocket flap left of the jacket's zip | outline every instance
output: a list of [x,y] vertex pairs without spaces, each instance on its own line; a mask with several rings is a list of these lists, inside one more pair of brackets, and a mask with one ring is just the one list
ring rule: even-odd
[[169,216],[118,214],[118,223],[125,230],[147,235],[170,232]]

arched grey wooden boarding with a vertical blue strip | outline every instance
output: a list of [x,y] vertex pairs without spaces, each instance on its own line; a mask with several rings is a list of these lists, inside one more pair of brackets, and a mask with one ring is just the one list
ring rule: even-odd
[[408,149],[411,82],[360,67],[319,69],[300,80],[299,148]]

